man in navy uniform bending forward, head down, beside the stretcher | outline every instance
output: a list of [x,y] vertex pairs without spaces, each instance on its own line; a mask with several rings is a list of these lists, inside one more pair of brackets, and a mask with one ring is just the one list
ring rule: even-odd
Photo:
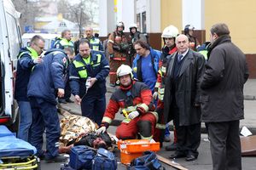
[[[67,54],[61,49],[50,49],[43,62],[33,68],[27,96],[32,107],[32,138],[30,143],[38,150],[38,156],[45,161],[65,161],[60,156],[60,122],[56,109],[56,97],[64,96],[65,72],[68,65]],[[42,150],[43,133],[46,129],[46,152]]]

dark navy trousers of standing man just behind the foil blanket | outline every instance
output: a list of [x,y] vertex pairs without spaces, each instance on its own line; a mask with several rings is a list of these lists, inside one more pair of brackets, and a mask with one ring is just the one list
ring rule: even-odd
[[81,110],[82,116],[86,116],[98,125],[101,125],[102,118],[106,110],[105,94],[85,95],[81,102]]

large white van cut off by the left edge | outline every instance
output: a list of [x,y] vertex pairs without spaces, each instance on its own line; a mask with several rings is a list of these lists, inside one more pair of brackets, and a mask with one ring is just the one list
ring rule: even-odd
[[11,0],[0,0],[0,124],[13,130],[19,123],[14,99],[15,65],[21,47],[19,18]]

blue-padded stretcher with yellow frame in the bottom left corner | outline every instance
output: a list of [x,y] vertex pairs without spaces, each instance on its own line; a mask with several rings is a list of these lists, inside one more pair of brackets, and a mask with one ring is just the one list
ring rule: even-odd
[[14,133],[0,125],[0,169],[40,169],[37,150],[24,140],[17,139]]

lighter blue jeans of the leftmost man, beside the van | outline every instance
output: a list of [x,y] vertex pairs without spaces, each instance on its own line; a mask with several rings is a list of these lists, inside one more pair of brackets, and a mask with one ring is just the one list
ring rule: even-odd
[[32,125],[32,110],[29,101],[18,101],[20,111],[20,125],[18,138],[29,142],[30,127]]

